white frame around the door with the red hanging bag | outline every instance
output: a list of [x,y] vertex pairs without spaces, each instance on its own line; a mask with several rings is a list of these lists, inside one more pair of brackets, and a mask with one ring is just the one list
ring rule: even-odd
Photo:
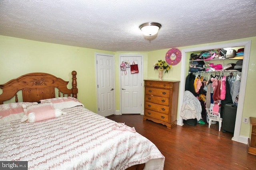
[[[141,82],[142,82],[142,85],[143,85],[143,55],[141,55],[141,54],[138,54],[138,55],[136,55],[136,54],[120,54],[119,55],[119,66],[120,66],[120,64],[122,63],[122,61],[121,61],[121,57],[141,57],[141,61],[142,61],[142,63],[141,63],[141,71],[142,71],[142,74],[141,74]],[[120,115],[121,115],[121,113],[122,113],[122,106],[121,106],[121,104],[122,104],[122,95],[121,95],[121,93],[122,93],[122,90],[121,90],[121,70],[119,69],[119,71],[118,71],[118,74],[119,74],[119,104],[120,104],[120,106],[119,106],[119,108],[120,108]],[[143,92],[143,86],[141,86],[141,91]],[[142,95],[143,95],[143,93],[142,93]],[[143,105],[143,97],[141,98],[141,104]],[[141,111],[140,111],[140,114],[141,115],[143,115],[143,108],[142,108],[142,106],[141,106]]]

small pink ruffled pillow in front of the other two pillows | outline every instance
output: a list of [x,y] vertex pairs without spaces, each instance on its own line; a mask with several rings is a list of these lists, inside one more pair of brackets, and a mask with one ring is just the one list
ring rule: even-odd
[[27,121],[30,123],[36,121],[43,121],[60,117],[62,114],[66,114],[60,109],[54,109],[51,101],[46,101],[42,104],[22,104],[24,110],[24,116],[21,121]]

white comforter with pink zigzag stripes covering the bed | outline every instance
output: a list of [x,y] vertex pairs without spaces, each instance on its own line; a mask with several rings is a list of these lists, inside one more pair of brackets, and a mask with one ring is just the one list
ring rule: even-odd
[[115,121],[82,106],[63,110],[54,119],[0,124],[0,160],[28,161],[30,170],[124,170],[158,160],[151,167],[163,169],[164,156],[142,135],[113,129]]

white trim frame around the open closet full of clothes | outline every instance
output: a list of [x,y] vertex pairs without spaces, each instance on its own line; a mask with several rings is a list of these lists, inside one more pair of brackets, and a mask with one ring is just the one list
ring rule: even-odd
[[[240,143],[248,143],[248,138],[240,136],[240,129],[242,123],[242,114],[244,108],[244,98],[245,98],[245,89],[246,89],[246,81],[247,81],[247,73],[249,66],[249,58],[250,58],[250,49],[251,49],[251,41],[240,41],[234,43],[225,43],[225,44],[217,44],[217,45],[208,45],[203,47],[194,47],[189,49],[182,49],[182,60],[181,60],[181,74],[180,74],[180,98],[179,98],[179,111],[181,111],[181,106],[183,103],[183,96],[185,91],[185,79],[186,79],[186,53],[192,51],[204,51],[209,49],[220,49],[220,48],[232,48],[232,47],[240,47],[244,46],[244,59],[242,65],[242,75],[241,75],[241,83],[240,83],[240,92],[239,92],[239,102],[237,107],[236,114],[236,124],[234,130],[233,141],[237,141]],[[180,113],[178,114],[178,122],[177,125],[183,125],[182,118],[180,117]]]

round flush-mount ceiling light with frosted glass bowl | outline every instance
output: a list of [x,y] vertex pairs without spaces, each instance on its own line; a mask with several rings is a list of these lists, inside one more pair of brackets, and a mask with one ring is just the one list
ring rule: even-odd
[[162,25],[160,23],[147,22],[147,23],[142,23],[139,28],[144,35],[151,36],[151,35],[155,35],[156,33],[158,33],[158,31],[161,27],[162,27]]

